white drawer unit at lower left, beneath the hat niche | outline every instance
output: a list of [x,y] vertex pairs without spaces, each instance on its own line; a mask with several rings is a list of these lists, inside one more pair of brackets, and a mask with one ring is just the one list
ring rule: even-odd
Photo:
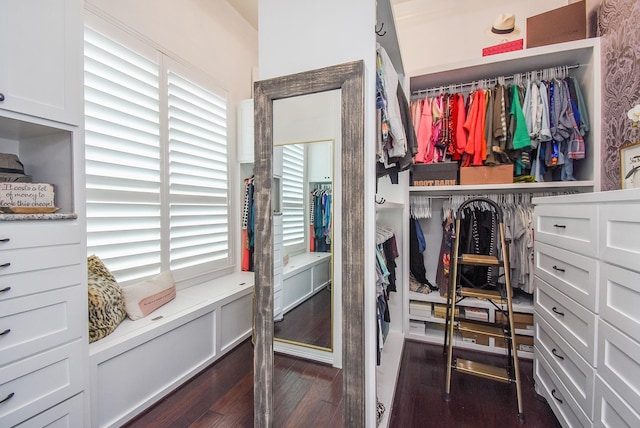
[[84,390],[84,228],[0,222],[0,425],[13,426]]

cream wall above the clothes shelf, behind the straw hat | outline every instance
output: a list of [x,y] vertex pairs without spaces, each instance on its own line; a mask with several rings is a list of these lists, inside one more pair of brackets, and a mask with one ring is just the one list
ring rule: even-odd
[[[594,1],[594,0],[591,0]],[[527,17],[566,6],[567,0],[396,0],[393,13],[407,76],[438,65],[482,57],[500,43],[487,35],[500,13],[513,13],[526,46]]]

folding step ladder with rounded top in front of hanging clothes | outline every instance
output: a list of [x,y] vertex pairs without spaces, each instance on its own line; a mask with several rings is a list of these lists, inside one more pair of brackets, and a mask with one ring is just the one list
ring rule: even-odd
[[[492,223],[495,227],[491,228],[491,239],[496,242],[499,240],[499,249],[495,254],[461,254],[460,253],[460,235],[461,220],[464,215],[471,215],[473,210],[482,209],[489,211],[494,216]],[[472,224],[471,234],[475,231]],[[505,230],[502,209],[494,201],[487,198],[472,198],[465,201],[457,211],[455,226],[455,241],[451,252],[451,269],[449,277],[449,290],[447,292],[447,314],[446,328],[444,337],[444,352],[447,355],[447,371],[446,383],[444,391],[444,400],[449,401],[451,398],[451,374],[455,370],[463,374],[471,374],[486,379],[513,383],[516,387],[516,399],[518,405],[518,419],[524,421],[524,412],[522,410],[522,392],[520,389],[520,372],[518,367],[518,354],[516,345],[516,335],[513,322],[513,303],[511,289],[511,278],[509,270],[509,257],[507,242],[505,239]],[[476,235],[477,236],[477,235]],[[504,284],[498,284],[495,288],[475,288],[463,287],[461,285],[461,269],[460,266],[482,266],[495,267],[504,271]],[[482,286],[484,284],[479,284]],[[459,302],[467,297],[483,299],[492,303],[497,310],[502,312],[507,320],[503,325],[494,323],[481,323],[464,321],[460,317],[456,317],[456,308]],[[507,343],[506,363],[504,367],[491,366],[479,362],[474,362],[462,358],[454,358],[454,332],[467,332],[480,334],[487,337],[503,338]]]

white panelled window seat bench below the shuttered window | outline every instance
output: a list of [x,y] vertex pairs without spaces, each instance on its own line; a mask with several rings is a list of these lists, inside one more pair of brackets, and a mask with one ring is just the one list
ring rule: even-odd
[[178,289],[89,344],[91,426],[131,420],[248,338],[253,286],[253,272],[236,272]]

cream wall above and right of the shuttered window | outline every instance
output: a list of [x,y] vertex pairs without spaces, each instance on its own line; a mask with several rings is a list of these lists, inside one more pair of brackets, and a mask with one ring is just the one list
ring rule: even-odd
[[[209,76],[227,91],[230,165],[236,163],[236,107],[252,96],[258,33],[225,0],[86,0],[87,10],[119,23]],[[240,270],[240,168],[229,168],[231,249]]]

